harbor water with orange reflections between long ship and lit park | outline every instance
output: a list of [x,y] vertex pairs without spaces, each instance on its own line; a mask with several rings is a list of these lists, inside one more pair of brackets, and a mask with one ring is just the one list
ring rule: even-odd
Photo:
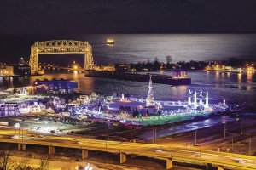
[[[154,84],[155,99],[186,100],[189,89],[208,91],[210,102],[255,104],[256,101],[256,74],[221,73],[215,71],[190,71],[192,84],[189,86],[172,87],[166,84]],[[19,77],[3,80],[0,86],[18,87],[32,84],[35,79],[66,78],[76,79],[79,82],[79,91],[84,93],[131,94],[138,98],[145,98],[148,92],[147,82],[130,82],[105,78],[84,77],[83,74],[58,73],[40,77]],[[154,83],[154,82],[153,82]]]

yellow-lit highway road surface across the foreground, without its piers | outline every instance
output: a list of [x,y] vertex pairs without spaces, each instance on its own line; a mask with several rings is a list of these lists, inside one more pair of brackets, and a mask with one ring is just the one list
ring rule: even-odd
[[[13,137],[16,136],[14,139]],[[0,128],[0,142],[52,145],[66,148],[85,150],[102,150],[111,153],[125,153],[127,155],[148,156],[173,161],[186,161],[195,164],[211,163],[224,167],[240,169],[256,169],[256,157],[210,150],[188,149],[179,146],[166,146],[160,144],[138,144],[129,142],[107,141],[97,139],[84,139],[74,136],[37,136],[28,131],[18,133],[15,129]],[[238,162],[236,159],[242,161]]]

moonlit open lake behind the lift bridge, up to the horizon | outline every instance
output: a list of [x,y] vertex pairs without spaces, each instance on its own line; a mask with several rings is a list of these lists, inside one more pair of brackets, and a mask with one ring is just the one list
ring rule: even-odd
[[[106,39],[115,40],[113,46]],[[62,36],[0,36],[0,62],[17,62],[20,57],[29,59],[30,46],[38,41],[73,39],[89,41],[97,65],[118,62],[138,62],[158,57],[165,62],[171,55],[179,60],[255,59],[256,34],[96,34]],[[82,54],[41,55],[39,61],[50,63],[84,62]]]

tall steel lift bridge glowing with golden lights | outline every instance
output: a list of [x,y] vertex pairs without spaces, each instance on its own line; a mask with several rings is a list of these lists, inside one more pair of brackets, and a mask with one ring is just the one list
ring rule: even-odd
[[84,54],[84,70],[92,70],[94,61],[89,42],[73,40],[51,40],[35,42],[31,47],[29,65],[31,74],[43,74],[38,63],[40,54]]

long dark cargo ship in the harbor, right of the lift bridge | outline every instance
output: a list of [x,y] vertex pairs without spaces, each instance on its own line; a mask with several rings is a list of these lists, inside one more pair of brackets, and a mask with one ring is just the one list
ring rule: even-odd
[[119,71],[84,71],[85,77],[102,77],[119,80],[127,80],[134,82],[148,82],[149,78],[152,81],[160,84],[169,84],[173,86],[189,85],[191,78],[188,76],[178,77],[175,75],[163,75],[156,73],[140,73],[140,72],[119,72]]

